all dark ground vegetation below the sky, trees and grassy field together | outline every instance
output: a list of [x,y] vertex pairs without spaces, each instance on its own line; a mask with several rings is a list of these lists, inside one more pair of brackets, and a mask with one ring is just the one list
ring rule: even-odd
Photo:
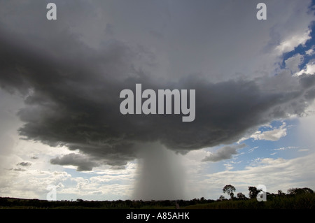
[[258,202],[256,196],[260,192],[255,187],[248,187],[247,198],[242,193],[237,193],[235,187],[226,185],[223,187],[223,193],[227,193],[230,199],[225,199],[223,195],[218,200],[208,200],[204,197],[190,201],[46,201],[38,199],[15,199],[0,197],[0,209],[81,209],[81,208],[99,208],[99,209],[314,209],[315,194],[313,190],[304,188],[290,188],[285,194],[281,190],[277,194],[267,193],[266,202]]

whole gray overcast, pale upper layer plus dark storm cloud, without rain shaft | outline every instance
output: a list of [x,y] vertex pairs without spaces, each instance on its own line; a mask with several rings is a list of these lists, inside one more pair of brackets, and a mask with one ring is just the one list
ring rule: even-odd
[[[183,154],[234,143],[261,124],[303,115],[315,97],[315,75],[292,75],[300,58],[279,66],[309,38],[310,1],[268,1],[268,22],[255,19],[255,1],[55,3],[57,21],[45,19],[44,1],[0,3],[0,85],[25,102],[20,136],[82,152],[51,164],[86,171],[127,164],[141,143]],[[196,89],[195,121],[120,114],[120,91],[136,83]]]

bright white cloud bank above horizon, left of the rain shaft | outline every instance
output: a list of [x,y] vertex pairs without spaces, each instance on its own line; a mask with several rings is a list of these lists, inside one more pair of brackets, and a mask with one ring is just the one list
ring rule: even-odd
[[[53,166],[52,166],[53,167]],[[56,185],[57,199],[130,199],[137,164],[124,170],[102,170],[71,175],[66,171],[6,170],[0,181],[0,196],[46,199],[48,185]]]

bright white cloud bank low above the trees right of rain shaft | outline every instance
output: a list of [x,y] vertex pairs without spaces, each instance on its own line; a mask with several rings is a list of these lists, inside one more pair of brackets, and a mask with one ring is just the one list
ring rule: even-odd
[[[237,192],[248,196],[248,187],[266,185],[267,192],[276,193],[278,189],[286,192],[291,187],[309,187],[315,189],[315,154],[295,159],[256,159],[251,166],[238,171],[219,171],[207,175],[207,178],[195,185],[200,194],[206,191],[211,199],[223,194],[225,185],[234,185]],[[197,193],[197,189],[196,189]],[[203,193],[204,194],[204,193]]]

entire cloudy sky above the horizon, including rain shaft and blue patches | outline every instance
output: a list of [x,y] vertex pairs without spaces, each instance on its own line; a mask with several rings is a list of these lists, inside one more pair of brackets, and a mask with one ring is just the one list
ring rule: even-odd
[[[0,1],[0,196],[315,189],[315,2]],[[195,89],[195,120],[120,92]]]

